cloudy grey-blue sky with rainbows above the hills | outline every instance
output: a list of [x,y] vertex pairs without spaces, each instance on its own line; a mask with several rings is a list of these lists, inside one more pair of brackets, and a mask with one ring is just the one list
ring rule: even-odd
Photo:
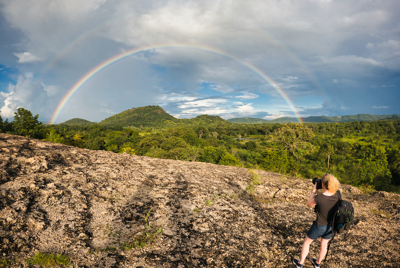
[[398,0],[0,0],[0,116],[400,114]]

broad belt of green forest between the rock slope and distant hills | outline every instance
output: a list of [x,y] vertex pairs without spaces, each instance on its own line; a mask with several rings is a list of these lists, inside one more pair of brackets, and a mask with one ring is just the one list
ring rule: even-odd
[[400,192],[400,120],[221,123],[166,129],[43,126],[19,108],[11,123],[0,117],[0,129],[90,150],[242,166],[304,178],[332,173],[345,184]]

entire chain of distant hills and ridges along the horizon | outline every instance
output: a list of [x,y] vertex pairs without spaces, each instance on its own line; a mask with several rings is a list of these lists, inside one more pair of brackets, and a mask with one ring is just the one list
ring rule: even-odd
[[[344,116],[310,116],[303,117],[304,123],[326,123],[326,122],[353,122],[353,121],[377,121],[377,120],[400,120],[399,114],[371,115],[357,114]],[[105,118],[100,123],[90,122],[81,118],[73,118],[62,124],[71,126],[90,126],[100,124],[106,127],[135,127],[135,128],[168,128],[168,127],[195,127],[200,125],[220,125],[223,123],[233,124],[274,124],[299,122],[296,117],[281,117],[275,120],[264,120],[255,117],[241,117],[224,120],[216,115],[199,115],[191,119],[179,119],[168,114],[160,106],[145,106],[132,108],[121,113]]]

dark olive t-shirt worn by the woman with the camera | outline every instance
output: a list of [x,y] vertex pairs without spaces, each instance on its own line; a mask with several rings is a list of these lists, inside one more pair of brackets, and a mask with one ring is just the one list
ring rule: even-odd
[[335,213],[339,195],[337,192],[332,196],[318,194],[314,197],[316,203],[316,225],[329,225]]

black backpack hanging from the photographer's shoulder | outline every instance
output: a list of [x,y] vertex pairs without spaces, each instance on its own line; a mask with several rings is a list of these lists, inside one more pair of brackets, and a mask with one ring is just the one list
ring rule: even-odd
[[340,191],[337,191],[337,194],[339,195],[339,201],[336,202],[336,208],[332,217],[332,239],[328,243],[328,250],[325,260],[328,257],[329,247],[331,246],[335,234],[341,234],[343,231],[348,230],[352,225],[354,218],[353,204],[349,201],[343,200]]

